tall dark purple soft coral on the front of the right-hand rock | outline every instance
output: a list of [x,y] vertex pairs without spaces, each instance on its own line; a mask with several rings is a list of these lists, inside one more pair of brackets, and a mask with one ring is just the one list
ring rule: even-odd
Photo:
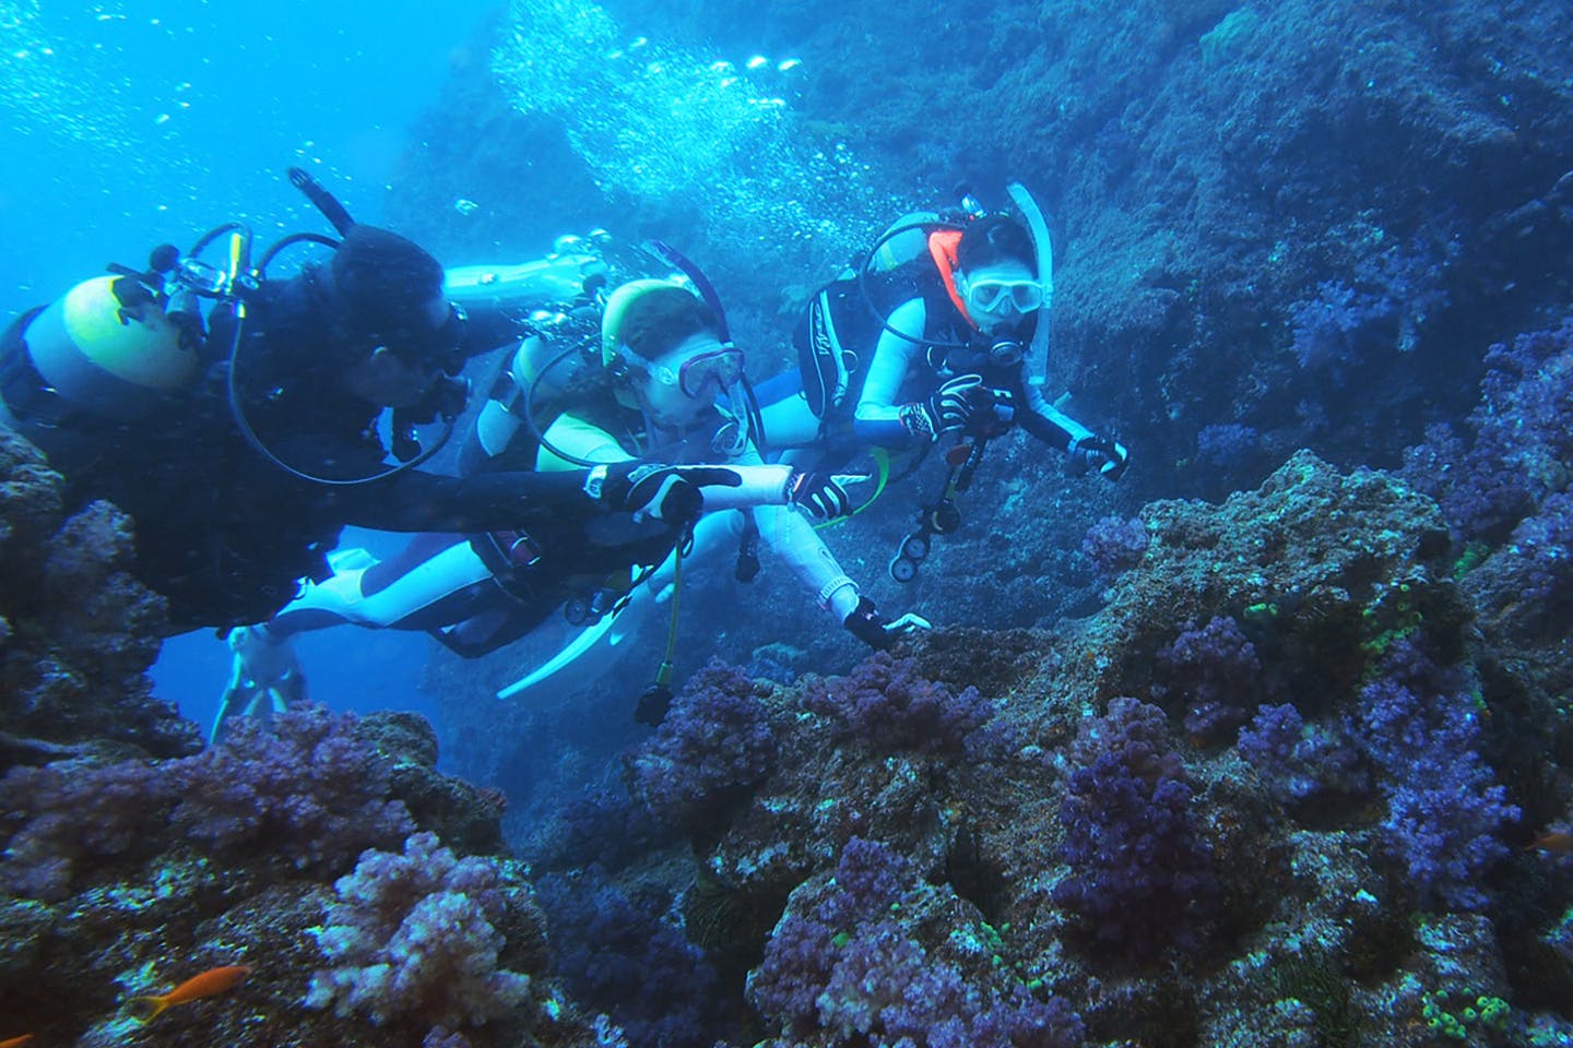
[[1191,944],[1216,908],[1218,881],[1164,712],[1111,699],[1104,716],[1082,723],[1070,756],[1060,858],[1071,869],[1054,900],[1095,941],[1134,958]]

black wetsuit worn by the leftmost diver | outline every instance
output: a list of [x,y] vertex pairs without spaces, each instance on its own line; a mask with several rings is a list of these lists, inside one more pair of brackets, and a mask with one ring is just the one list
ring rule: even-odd
[[[135,522],[137,577],[168,599],[175,630],[272,616],[348,525],[387,531],[573,529],[598,514],[582,473],[469,478],[406,470],[360,486],[315,484],[264,459],[228,401],[228,360],[187,393],[129,423],[41,390],[27,361],[24,314],[0,338],[0,393],[24,437],[66,478],[68,509],[109,500]],[[245,416],[264,445],[307,473],[368,476],[387,468],[381,409],[341,382],[348,357],[311,272],[263,286],[239,347]],[[222,332],[211,339],[223,344]],[[480,347],[488,349],[488,347]]]

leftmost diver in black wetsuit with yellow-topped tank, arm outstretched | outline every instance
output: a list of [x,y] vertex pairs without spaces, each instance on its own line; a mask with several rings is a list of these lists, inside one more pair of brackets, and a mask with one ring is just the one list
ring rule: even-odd
[[[431,255],[355,223],[300,170],[294,184],[338,237],[302,233],[252,266],[228,223],[146,270],[112,266],[0,335],[0,421],[64,476],[68,511],[93,500],[135,523],[134,573],[167,600],[171,632],[267,619],[326,578],[348,523],[389,531],[591,531],[591,544],[673,542],[705,509],[786,501],[796,475],[613,464],[466,478],[418,467],[417,440],[464,407],[464,361],[516,333],[469,317]],[[201,256],[223,242],[223,261]],[[297,244],[332,250],[288,278]],[[390,415],[390,421],[384,418]],[[392,454],[379,432],[392,432]]]

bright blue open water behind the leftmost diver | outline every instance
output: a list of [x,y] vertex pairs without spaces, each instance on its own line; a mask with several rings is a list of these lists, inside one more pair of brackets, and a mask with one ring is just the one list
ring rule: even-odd
[[[5,322],[109,262],[142,266],[244,220],[267,244],[326,231],[285,181],[311,170],[378,220],[411,123],[495,0],[260,5],[0,0],[0,314]],[[374,11],[374,14],[373,14]],[[384,540],[346,534],[346,544]],[[329,630],[299,646],[313,698],[426,709],[420,635]],[[211,632],[171,639],[157,693],[206,724],[228,672]]]

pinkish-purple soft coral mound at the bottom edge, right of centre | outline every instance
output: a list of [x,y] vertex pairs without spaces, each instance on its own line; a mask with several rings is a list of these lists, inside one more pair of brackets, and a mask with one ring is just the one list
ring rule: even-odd
[[[950,913],[942,943],[925,943],[923,914],[956,900],[919,883],[889,847],[854,837],[834,877],[793,892],[749,999],[785,1037],[900,1048],[1068,1048],[1082,1026],[1060,998],[1035,999],[1013,980],[980,979],[963,958],[986,955]],[[996,973],[985,960],[983,971]],[[785,1045],[788,1042],[769,1042]]]

